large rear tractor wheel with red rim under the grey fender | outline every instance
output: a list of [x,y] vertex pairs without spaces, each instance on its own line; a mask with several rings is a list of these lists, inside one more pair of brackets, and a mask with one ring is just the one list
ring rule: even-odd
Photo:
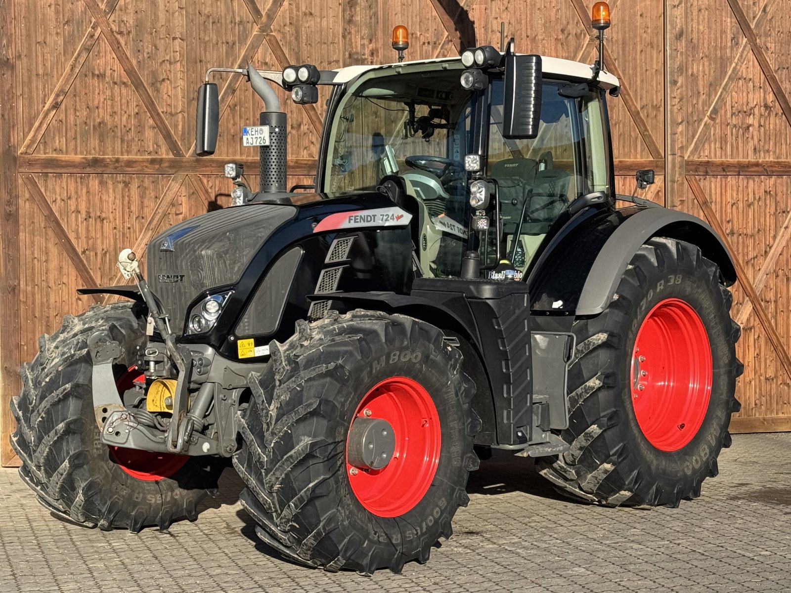
[[677,507],[700,496],[740,408],[731,302],[698,247],[644,244],[604,312],[574,322],[570,422],[560,432],[570,450],[540,458],[540,474],[607,506]]

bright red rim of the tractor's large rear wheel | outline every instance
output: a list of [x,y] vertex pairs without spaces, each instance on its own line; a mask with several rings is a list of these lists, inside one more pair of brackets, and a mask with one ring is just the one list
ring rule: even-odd
[[690,304],[665,299],[645,315],[634,340],[631,394],[645,438],[678,451],[698,433],[711,397],[706,327]]

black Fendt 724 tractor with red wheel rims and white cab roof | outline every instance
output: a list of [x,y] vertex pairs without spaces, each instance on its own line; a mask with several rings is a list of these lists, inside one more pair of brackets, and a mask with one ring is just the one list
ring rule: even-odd
[[[501,49],[209,70],[197,152],[218,134],[210,75],[243,74],[266,104],[243,134],[259,191],[226,165],[232,206],[155,237],[145,275],[122,251],[134,284],[81,293],[127,300],[40,339],[11,403],[40,503],[164,530],[233,462],[264,542],[371,574],[428,560],[492,449],[578,500],[698,497],[739,408],[729,253],[698,218],[616,196],[601,60]],[[331,87],[301,191],[271,83],[298,104]]]

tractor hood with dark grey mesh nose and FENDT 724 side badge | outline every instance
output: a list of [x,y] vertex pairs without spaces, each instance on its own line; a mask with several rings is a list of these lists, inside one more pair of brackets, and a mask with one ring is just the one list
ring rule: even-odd
[[202,214],[154,237],[146,277],[171,329],[182,334],[193,301],[210,289],[233,288],[229,307],[243,305],[263,268],[289,244],[348,228],[403,227],[410,219],[378,192],[259,193],[248,205]]

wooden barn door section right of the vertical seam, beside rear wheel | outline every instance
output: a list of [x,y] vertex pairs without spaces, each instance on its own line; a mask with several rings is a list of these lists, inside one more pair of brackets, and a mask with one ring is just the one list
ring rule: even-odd
[[668,202],[724,237],[739,277],[731,430],[791,430],[791,13],[782,0],[668,2]]

